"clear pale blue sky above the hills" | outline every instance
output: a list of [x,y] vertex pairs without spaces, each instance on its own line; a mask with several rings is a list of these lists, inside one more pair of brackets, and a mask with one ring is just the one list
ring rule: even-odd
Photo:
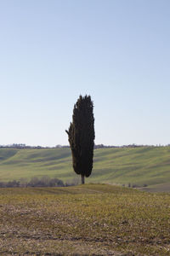
[[68,144],[80,94],[95,143],[170,143],[169,0],[1,0],[0,144]]

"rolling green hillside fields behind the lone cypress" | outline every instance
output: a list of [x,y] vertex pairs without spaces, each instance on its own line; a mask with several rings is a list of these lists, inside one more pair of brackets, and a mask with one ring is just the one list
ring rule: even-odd
[[[70,148],[0,149],[0,181],[20,178],[77,178]],[[88,183],[128,183],[143,186],[170,181],[170,147],[99,148],[94,150],[94,170]]]

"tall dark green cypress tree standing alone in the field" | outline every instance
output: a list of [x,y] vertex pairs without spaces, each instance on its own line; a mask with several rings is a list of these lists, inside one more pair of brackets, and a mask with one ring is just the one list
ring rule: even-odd
[[90,96],[80,96],[74,105],[68,134],[71,145],[72,165],[77,174],[89,177],[94,158],[94,104]]

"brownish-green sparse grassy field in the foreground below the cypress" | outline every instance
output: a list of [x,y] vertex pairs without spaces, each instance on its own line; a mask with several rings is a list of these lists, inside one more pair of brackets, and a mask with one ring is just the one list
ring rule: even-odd
[[170,194],[0,189],[0,255],[170,255]]

